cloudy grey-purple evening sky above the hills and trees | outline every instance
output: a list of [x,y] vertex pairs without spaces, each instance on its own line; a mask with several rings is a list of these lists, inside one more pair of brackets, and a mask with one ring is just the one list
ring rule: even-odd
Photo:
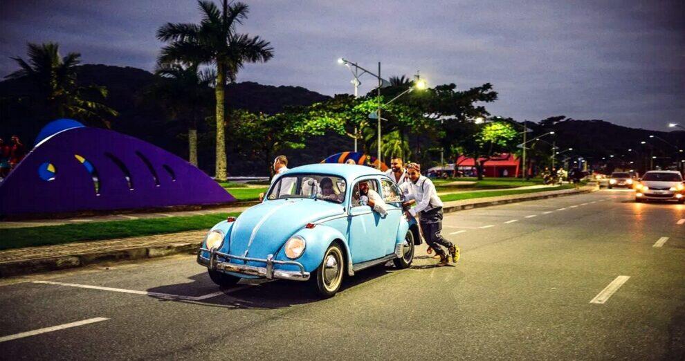
[[[218,1],[218,0],[217,0]],[[685,124],[682,0],[255,0],[240,32],[275,57],[239,81],[351,93],[345,57],[384,77],[421,71],[460,89],[491,82],[495,115],[603,119],[668,130]],[[197,22],[191,0],[0,1],[0,76],[26,43],[57,41],[84,63],[152,70],[166,22]],[[361,91],[372,88],[361,79]]]

